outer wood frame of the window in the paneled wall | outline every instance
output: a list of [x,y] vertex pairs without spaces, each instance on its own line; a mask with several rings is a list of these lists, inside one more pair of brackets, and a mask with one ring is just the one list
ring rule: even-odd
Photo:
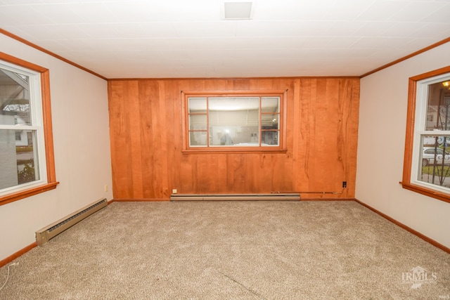
[[[288,90],[263,90],[263,91],[181,91],[181,102],[182,102],[182,124],[183,124],[183,149],[181,152],[186,154],[195,153],[246,153],[246,152],[287,152],[286,149],[286,105],[287,105],[287,93]],[[270,146],[195,146],[191,147],[189,145],[189,105],[188,98],[190,97],[269,97],[276,96],[280,97],[280,112],[279,112],[279,141],[278,145]],[[259,112],[261,117],[261,112]],[[259,124],[261,127],[261,124]],[[209,129],[207,129],[209,131]],[[262,131],[259,128],[259,133]],[[259,135],[260,136],[260,135]]]

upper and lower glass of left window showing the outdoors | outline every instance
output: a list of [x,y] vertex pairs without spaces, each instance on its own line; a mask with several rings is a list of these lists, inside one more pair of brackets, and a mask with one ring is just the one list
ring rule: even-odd
[[39,180],[30,77],[0,67],[0,190]]

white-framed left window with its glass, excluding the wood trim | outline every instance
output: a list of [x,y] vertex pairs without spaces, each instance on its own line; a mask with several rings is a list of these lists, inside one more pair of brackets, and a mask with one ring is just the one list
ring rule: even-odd
[[0,60],[0,197],[47,183],[41,96],[41,73]]

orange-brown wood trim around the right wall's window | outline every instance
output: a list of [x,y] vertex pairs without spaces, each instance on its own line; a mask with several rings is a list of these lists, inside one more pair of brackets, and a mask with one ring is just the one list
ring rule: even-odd
[[435,77],[440,74],[450,72],[450,66],[442,67],[437,70],[419,74],[409,78],[408,87],[408,109],[406,112],[406,138],[405,138],[405,150],[404,150],[404,163],[403,163],[403,178],[400,182],[401,186],[406,190],[411,190],[428,197],[433,197],[438,200],[450,203],[450,194],[442,193],[438,190],[431,188],[425,188],[421,185],[415,185],[411,183],[411,169],[413,165],[413,148],[414,148],[414,128],[415,128],[415,116],[416,116],[416,97],[417,97],[417,82],[430,77]]

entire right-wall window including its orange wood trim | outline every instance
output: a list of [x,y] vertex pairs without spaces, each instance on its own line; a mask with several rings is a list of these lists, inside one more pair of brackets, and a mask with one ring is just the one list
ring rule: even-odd
[[409,79],[402,185],[450,202],[450,67]]

